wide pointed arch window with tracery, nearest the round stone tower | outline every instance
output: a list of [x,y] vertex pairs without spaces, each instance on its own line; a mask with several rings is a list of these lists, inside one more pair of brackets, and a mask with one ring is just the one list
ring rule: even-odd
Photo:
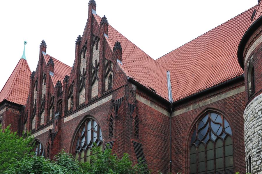
[[232,130],[222,114],[205,113],[194,125],[189,144],[190,174],[233,169]]

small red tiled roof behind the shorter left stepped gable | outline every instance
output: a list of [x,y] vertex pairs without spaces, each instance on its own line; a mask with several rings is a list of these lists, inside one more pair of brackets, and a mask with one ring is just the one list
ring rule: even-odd
[[[48,63],[50,57],[52,57],[45,53],[43,53],[43,56],[46,64]],[[61,81],[63,86],[63,80],[65,78],[65,75],[70,75],[72,67],[64,64],[63,62],[55,59],[54,57],[52,57],[52,59],[54,61],[54,76],[51,76],[52,82],[55,86],[57,81]]]

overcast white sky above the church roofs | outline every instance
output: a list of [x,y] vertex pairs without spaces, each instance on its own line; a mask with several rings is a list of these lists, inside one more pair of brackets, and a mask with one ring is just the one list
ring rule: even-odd
[[[89,0],[8,0],[0,2],[0,89],[22,56],[36,69],[39,44],[69,66],[82,36]],[[255,6],[257,0],[96,0],[97,14],[153,59],[191,41]]]

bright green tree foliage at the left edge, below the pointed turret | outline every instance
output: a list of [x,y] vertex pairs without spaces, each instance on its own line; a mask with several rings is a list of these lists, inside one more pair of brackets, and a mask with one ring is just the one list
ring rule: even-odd
[[32,136],[19,137],[17,132],[12,132],[10,126],[2,129],[0,124],[0,173],[10,164],[21,160],[32,150]]

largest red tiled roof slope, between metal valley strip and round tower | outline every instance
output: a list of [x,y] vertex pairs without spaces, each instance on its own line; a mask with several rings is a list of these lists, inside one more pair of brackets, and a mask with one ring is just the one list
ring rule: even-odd
[[170,70],[174,101],[243,74],[237,50],[256,7],[157,59]]

